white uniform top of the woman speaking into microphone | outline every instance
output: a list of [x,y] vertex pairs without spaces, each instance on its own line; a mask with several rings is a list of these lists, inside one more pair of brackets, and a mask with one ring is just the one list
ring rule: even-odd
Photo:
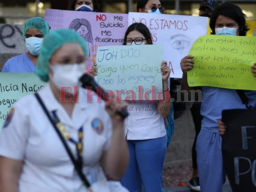
[[[109,192],[99,161],[111,139],[111,120],[104,102],[86,100],[86,89],[79,90],[72,118],[55,99],[49,84],[39,91],[49,112],[56,113],[71,137],[78,141],[78,129],[83,126],[83,160],[86,179],[94,192]],[[13,105],[9,120],[0,137],[0,156],[23,160],[19,192],[87,192],[78,177],[63,144],[36,96],[21,98]],[[9,123],[9,124],[8,124]],[[75,145],[69,141],[73,155]]]

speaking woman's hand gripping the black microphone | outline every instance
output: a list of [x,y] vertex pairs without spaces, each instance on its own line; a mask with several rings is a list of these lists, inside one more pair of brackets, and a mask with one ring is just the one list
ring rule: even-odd
[[106,102],[105,108],[110,114],[111,120],[116,123],[123,122],[124,119],[119,114],[117,114],[116,111],[122,111],[126,108],[127,104],[122,101],[117,102],[114,97],[112,97],[110,100],[111,101]]

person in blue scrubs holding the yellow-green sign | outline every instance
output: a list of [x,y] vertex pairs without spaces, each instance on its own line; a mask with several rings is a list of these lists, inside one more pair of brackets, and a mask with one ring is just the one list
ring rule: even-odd
[[[246,36],[249,27],[245,23],[245,18],[246,15],[237,5],[231,2],[219,5],[210,18],[212,35]],[[193,64],[193,56],[191,55],[181,60],[182,85],[183,89],[187,91],[192,89],[187,83],[187,71],[193,68]],[[256,63],[252,65],[252,69],[253,74],[256,75]],[[203,102],[200,113],[203,116],[203,120],[201,131],[196,141],[200,188],[201,192],[222,192],[226,173],[223,168],[221,137],[217,128],[217,121],[221,118],[222,110],[242,109],[246,108],[246,106],[234,89],[210,86],[202,86],[201,89]],[[256,91],[246,90],[244,94],[248,97],[249,104],[255,106]]]

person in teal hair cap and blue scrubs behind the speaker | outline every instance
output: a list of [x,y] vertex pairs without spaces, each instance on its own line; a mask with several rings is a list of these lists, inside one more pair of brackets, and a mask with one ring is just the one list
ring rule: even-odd
[[28,51],[7,60],[2,72],[35,72],[37,57],[49,29],[49,24],[41,17],[26,20],[23,25],[22,38]]

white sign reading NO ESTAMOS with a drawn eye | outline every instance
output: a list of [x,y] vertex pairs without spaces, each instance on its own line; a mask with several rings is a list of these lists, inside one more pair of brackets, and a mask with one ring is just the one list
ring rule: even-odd
[[151,32],[153,44],[164,45],[171,77],[182,78],[180,62],[195,40],[207,34],[207,17],[129,12],[128,25],[140,22]]

